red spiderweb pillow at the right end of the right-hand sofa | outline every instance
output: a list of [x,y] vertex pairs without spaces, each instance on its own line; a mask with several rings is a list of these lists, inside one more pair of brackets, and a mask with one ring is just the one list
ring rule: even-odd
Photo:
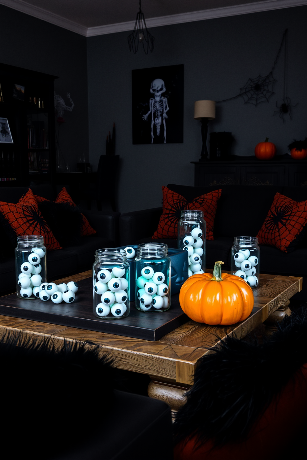
[[307,201],[294,201],[276,193],[257,238],[260,244],[289,253],[301,242],[307,224]]

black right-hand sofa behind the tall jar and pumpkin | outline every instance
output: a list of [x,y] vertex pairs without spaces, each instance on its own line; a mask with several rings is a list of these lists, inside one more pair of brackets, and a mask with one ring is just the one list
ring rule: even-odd
[[[221,189],[214,220],[214,241],[206,241],[206,266],[213,268],[214,262],[225,262],[223,268],[230,270],[230,250],[234,236],[256,236],[277,192],[295,201],[307,200],[307,187],[276,187],[268,185],[213,185],[189,187],[168,184],[168,188],[180,193],[187,201],[212,190]],[[151,242],[162,207],[144,209],[120,216],[120,245]],[[177,240],[154,240],[177,247]],[[287,276],[302,276],[303,290],[295,299],[307,299],[307,236],[293,252],[284,253],[272,246],[260,245],[261,273]]]

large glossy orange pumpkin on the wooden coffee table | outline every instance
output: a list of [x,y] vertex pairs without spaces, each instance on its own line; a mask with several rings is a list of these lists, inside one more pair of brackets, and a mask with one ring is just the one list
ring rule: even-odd
[[253,310],[252,289],[239,276],[221,273],[221,264],[224,262],[215,262],[212,275],[190,276],[180,289],[180,306],[194,321],[235,324],[247,318]]

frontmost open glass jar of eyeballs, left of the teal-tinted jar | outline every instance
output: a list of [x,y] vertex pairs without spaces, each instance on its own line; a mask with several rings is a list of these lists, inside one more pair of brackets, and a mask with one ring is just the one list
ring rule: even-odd
[[129,264],[122,249],[98,249],[93,264],[94,315],[124,318],[130,313]]

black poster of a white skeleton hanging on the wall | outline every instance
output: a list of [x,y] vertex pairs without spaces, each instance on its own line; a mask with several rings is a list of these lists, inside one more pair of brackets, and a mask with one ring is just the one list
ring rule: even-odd
[[132,71],[133,144],[183,143],[183,64]]

